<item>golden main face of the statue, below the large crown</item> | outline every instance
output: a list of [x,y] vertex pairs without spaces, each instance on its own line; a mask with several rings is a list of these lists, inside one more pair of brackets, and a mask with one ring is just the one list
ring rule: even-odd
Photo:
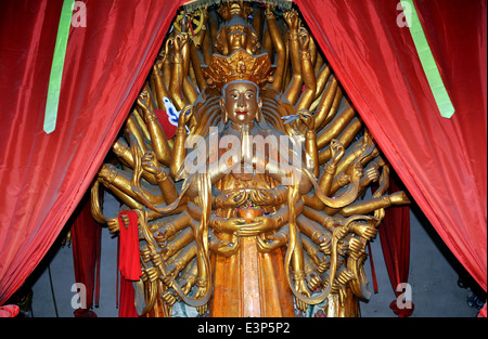
[[232,81],[223,89],[220,107],[232,122],[237,125],[251,123],[256,119],[262,106],[258,95],[258,88],[253,82]]

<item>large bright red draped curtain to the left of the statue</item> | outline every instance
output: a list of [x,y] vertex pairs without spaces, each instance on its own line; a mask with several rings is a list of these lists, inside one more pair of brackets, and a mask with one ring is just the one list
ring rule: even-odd
[[57,125],[43,116],[61,0],[0,4],[0,304],[33,272],[89,188],[182,3],[82,1]]

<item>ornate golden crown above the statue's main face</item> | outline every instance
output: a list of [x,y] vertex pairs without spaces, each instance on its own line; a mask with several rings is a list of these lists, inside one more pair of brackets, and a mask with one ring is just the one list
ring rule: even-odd
[[234,80],[248,80],[262,89],[272,82],[275,67],[271,66],[268,54],[251,55],[239,49],[229,56],[214,54],[208,66],[201,69],[207,84],[218,90]]

